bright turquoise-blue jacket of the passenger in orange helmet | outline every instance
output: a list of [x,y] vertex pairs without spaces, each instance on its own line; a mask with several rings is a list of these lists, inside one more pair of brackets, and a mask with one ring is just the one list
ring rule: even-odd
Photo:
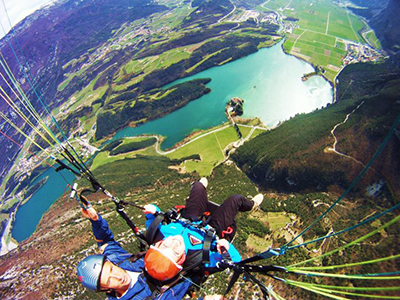
[[[154,204],[153,204],[154,205]],[[155,205],[154,205],[155,206]],[[157,211],[160,211],[160,209],[157,208]],[[149,228],[150,224],[153,222],[155,216],[153,214],[146,214],[146,227]],[[198,222],[200,223],[200,222]],[[207,225],[208,226],[208,225]],[[207,227],[205,227],[207,228]],[[188,226],[186,222],[183,221],[176,221],[176,222],[171,222],[166,225],[159,225],[159,229],[161,234],[163,235],[163,238],[167,238],[169,236],[173,235],[181,235],[183,237],[183,240],[185,242],[185,254],[188,254],[188,251],[196,251],[196,250],[202,250],[203,249],[203,243],[205,239],[205,232],[197,229],[192,226]],[[216,239],[214,238],[211,247],[210,247],[210,263],[206,264],[206,267],[215,267],[217,262],[222,260],[222,255],[217,252],[217,246],[216,246]],[[228,249],[229,256],[233,262],[239,262],[242,260],[242,257],[240,256],[239,252],[236,250],[236,248],[232,245],[229,244],[229,249]]]

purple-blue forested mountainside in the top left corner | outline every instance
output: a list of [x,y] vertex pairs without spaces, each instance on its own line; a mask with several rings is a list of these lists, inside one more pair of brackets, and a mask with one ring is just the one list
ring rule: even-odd
[[[102,45],[122,24],[166,9],[150,0],[93,2],[57,1],[21,21],[1,41],[0,50],[17,78],[25,75],[13,48],[25,54],[21,63],[29,65],[39,90],[51,99],[49,106],[54,105],[67,62]],[[29,90],[29,85],[23,87]]]

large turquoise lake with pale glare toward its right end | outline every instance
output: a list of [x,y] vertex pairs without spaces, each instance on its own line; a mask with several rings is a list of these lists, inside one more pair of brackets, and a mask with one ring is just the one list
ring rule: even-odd
[[[130,127],[130,126],[126,126],[126,127],[124,127],[124,129],[115,132],[112,137],[108,137],[107,141],[110,141],[113,139],[118,139],[118,138],[123,138],[123,137],[127,137],[127,136],[137,136],[137,135],[143,135],[143,134],[156,134],[156,135],[165,137],[165,140],[163,142],[165,149],[174,149],[177,146],[179,146],[179,144],[184,143],[185,140],[190,139],[193,135],[195,135],[199,132],[208,130],[210,128],[216,127],[216,126],[220,126],[222,123],[226,122],[226,116],[224,114],[224,109],[225,109],[226,103],[224,102],[225,101],[224,99],[225,98],[230,99],[230,98],[232,98],[232,96],[240,97],[240,98],[243,98],[246,100],[246,105],[244,108],[245,112],[251,110],[252,108],[256,110],[256,113],[249,113],[249,114],[245,113],[244,118],[259,117],[261,122],[263,122],[267,128],[269,128],[269,129],[275,128],[276,126],[278,126],[278,124],[283,123],[284,120],[289,119],[290,115],[277,116],[276,119],[272,120],[272,122],[265,122],[263,120],[263,117],[261,115],[263,112],[270,110],[269,108],[267,109],[267,106],[269,104],[255,104],[255,103],[252,103],[252,101],[253,101],[252,99],[254,97],[256,99],[260,98],[260,96],[258,96],[257,93],[260,93],[263,91],[263,89],[265,89],[265,82],[268,82],[268,85],[272,85],[273,87],[275,87],[275,86],[274,86],[274,82],[272,82],[272,83],[270,82],[271,80],[269,79],[269,77],[264,78],[264,77],[260,76],[260,74],[258,74],[257,72],[254,73],[254,68],[260,68],[259,72],[266,72],[266,73],[262,73],[262,74],[264,74],[263,76],[279,75],[279,76],[284,76],[283,78],[285,78],[285,79],[287,77],[286,73],[288,71],[291,71],[292,73],[294,71],[296,71],[297,73],[295,73],[295,74],[298,74],[298,75],[293,75],[293,74],[290,75],[291,77],[293,77],[293,76],[295,76],[295,77],[289,79],[289,81],[287,83],[285,82],[285,84],[291,84],[291,82],[294,82],[297,85],[299,85],[299,82],[301,83],[301,75],[304,74],[305,72],[308,72],[309,69],[311,70],[311,66],[308,62],[304,62],[303,60],[298,59],[296,56],[286,54],[283,51],[282,47],[278,47],[278,45],[280,43],[282,44],[283,41],[279,40],[276,43],[274,43],[272,46],[260,48],[257,52],[252,53],[251,55],[248,55],[241,59],[235,60],[229,64],[224,64],[223,66],[209,68],[206,71],[202,71],[202,72],[196,74],[195,76],[198,76],[201,78],[203,78],[203,77],[211,78],[212,76],[207,76],[208,74],[213,74],[214,76],[216,76],[216,77],[212,78],[210,83],[207,84],[207,86],[209,86],[212,89],[211,93],[209,93],[205,96],[202,96],[194,101],[190,101],[183,108],[175,110],[172,113],[165,114],[163,117],[159,117],[153,121],[148,121],[148,122],[141,124],[140,126],[136,126],[134,128]],[[277,48],[274,48],[275,46]],[[272,50],[272,49],[275,49],[275,50]],[[293,60],[293,58],[295,60]],[[296,63],[296,61],[298,61],[299,63]],[[238,71],[242,72],[242,70],[244,70],[243,67],[247,67],[247,65],[249,63],[251,64],[251,66],[254,65],[254,68],[249,66],[249,69],[251,69],[251,71],[253,72],[252,74],[250,74],[251,76],[246,76],[247,73],[246,74],[243,74],[243,73],[236,74],[235,73]],[[269,65],[270,63],[272,63],[271,66],[273,67],[273,69],[271,69],[271,66]],[[207,72],[207,73],[203,73],[203,72]],[[273,75],[269,75],[268,73],[272,73]],[[236,77],[234,77],[233,79],[230,79],[229,76],[236,76]],[[260,78],[260,77],[262,77],[262,78]],[[193,78],[193,76],[185,77],[180,80],[187,81],[187,80],[191,80],[191,78]],[[243,81],[243,78],[246,78],[247,80]],[[320,79],[320,80],[321,80],[321,82],[322,81],[326,82],[325,79]],[[178,84],[179,82],[180,82],[179,80],[174,81],[174,82],[170,83],[170,85],[172,86],[172,85]],[[238,82],[240,84],[247,84],[247,86],[246,85],[240,86],[240,84],[237,84],[236,82]],[[231,85],[233,84],[234,88],[230,89],[228,84],[231,84]],[[256,89],[255,86],[257,86],[258,88]],[[330,84],[327,86],[329,86],[329,88],[331,90],[332,86]],[[216,88],[221,88],[221,87],[223,87],[225,90],[216,91]],[[310,88],[310,87],[306,87],[306,86],[302,87],[303,90],[304,89],[307,90],[307,88]],[[311,88],[314,90],[315,89],[318,90],[318,85],[316,87],[311,87]],[[327,87],[324,87],[324,89],[326,89],[326,88]],[[240,92],[240,90],[243,90],[245,92],[244,95],[243,95],[243,92]],[[267,94],[275,95],[274,91],[268,91]],[[285,99],[286,98],[290,98],[290,97],[285,96]],[[304,96],[303,96],[303,98],[304,98]],[[250,100],[248,101],[248,99],[250,99]],[[274,101],[278,102],[273,105],[273,109],[276,109],[276,106],[279,106],[281,104],[279,103],[280,102],[279,99],[275,99]],[[297,102],[301,103],[301,99],[296,100],[296,103]],[[325,106],[328,102],[329,103],[332,102],[332,94],[329,94],[329,99],[327,100],[326,103],[324,102],[325,104],[322,104],[322,105]],[[259,106],[259,105],[261,105],[261,106]],[[313,109],[320,108],[320,107],[321,107],[321,104],[318,104],[318,105],[314,106]],[[204,108],[210,110],[212,112],[212,114],[210,114],[208,111],[204,110]],[[292,109],[296,109],[296,107],[294,107]],[[285,110],[287,110],[287,106],[286,106]],[[187,112],[193,113],[194,116],[192,116],[190,114],[188,115]],[[295,111],[294,113],[292,113],[292,112],[289,112],[289,113],[292,116],[294,116],[296,113],[302,113],[302,112],[303,111]],[[261,113],[261,115],[259,115],[260,113]],[[272,112],[272,113],[274,113],[274,112]],[[218,117],[215,117],[213,114],[218,115]],[[196,118],[194,118],[194,117],[196,117]],[[205,119],[207,119],[207,120],[210,119],[211,122],[207,121]],[[192,125],[192,124],[194,124],[194,125]],[[153,127],[151,127],[151,126],[153,126]],[[177,129],[175,129],[174,126]],[[189,131],[184,131],[185,129],[181,128],[183,126],[188,127]],[[165,132],[160,132],[160,130],[161,131],[164,130]],[[178,130],[181,130],[181,131],[178,131]],[[168,139],[170,139],[170,140],[167,141]],[[100,141],[101,141],[101,143],[105,142],[104,139],[102,139]],[[167,141],[167,142],[165,143],[165,141]],[[161,148],[161,145],[160,145],[160,148]],[[164,151],[164,149],[161,149],[161,150]],[[61,191],[61,193],[62,193],[62,191]],[[57,198],[59,198],[59,196]]]

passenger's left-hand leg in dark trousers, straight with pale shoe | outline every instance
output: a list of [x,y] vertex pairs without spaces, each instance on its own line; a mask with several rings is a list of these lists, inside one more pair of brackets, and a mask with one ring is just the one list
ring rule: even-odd
[[197,219],[207,211],[208,197],[205,180],[202,178],[201,181],[193,183],[189,198],[186,200],[186,207],[182,211],[183,217]]

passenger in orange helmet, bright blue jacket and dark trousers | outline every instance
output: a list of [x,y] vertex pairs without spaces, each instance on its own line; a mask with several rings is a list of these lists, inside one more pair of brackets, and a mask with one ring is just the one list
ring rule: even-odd
[[[182,211],[182,217],[190,220],[194,225],[201,223],[198,220],[207,210],[207,185],[206,178],[201,178],[192,185],[186,206]],[[233,262],[241,260],[239,252],[230,243],[236,233],[236,214],[239,211],[250,211],[253,207],[259,206],[262,200],[262,194],[258,194],[252,200],[242,195],[232,195],[213,212],[208,225],[216,230],[216,235],[211,241],[209,262],[205,265],[206,268],[216,267],[217,263],[227,256]],[[144,208],[147,217],[146,226],[149,228],[154,220],[154,214],[159,209],[152,204],[145,205]],[[147,251],[144,258],[145,269],[154,279],[171,280],[184,269],[188,255],[193,256],[196,251],[203,251],[205,233],[204,230],[199,230],[195,226],[188,226],[184,221],[160,225],[158,229],[159,241]]]

